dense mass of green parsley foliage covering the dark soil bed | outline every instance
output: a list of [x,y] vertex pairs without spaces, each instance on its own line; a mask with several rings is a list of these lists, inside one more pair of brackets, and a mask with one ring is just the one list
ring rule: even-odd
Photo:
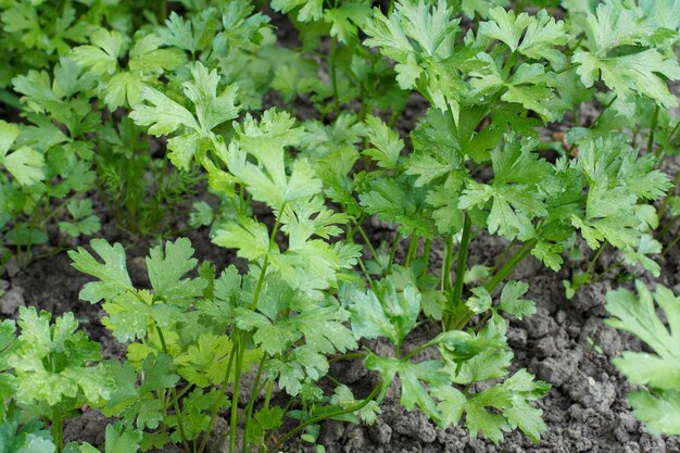
[[[507,318],[536,307],[509,277],[530,256],[575,268],[581,244],[594,253],[568,297],[610,270],[593,273],[605,248],[620,275],[659,275],[680,214],[680,176],[659,169],[680,142],[680,0],[506,3],[0,0],[0,266],[97,235],[102,210],[159,238],[149,288],[121,243],[70,252],[125,360],[103,361],[72,314],[0,325],[0,445],[96,452],[64,445],[87,405],[117,420],[105,452],[204,452],[218,414],[229,452],[276,452],[316,442],[325,419],[374,423],[395,379],[401,404],[442,428],[538,441],[550,385],[511,373]],[[269,16],[297,41],[278,42]],[[427,111],[398,128],[414,100]],[[199,265],[173,216],[241,266]],[[395,232],[373,243],[370,218]],[[507,241],[495,263],[468,263],[480,235]],[[634,298],[615,294],[616,326],[639,334]],[[414,344],[421,323],[438,334]],[[672,367],[662,334],[641,338]],[[353,360],[380,377],[367,394],[330,374]],[[654,392],[631,397],[637,415],[668,431],[653,418],[678,386],[634,376],[640,361],[617,366]]]

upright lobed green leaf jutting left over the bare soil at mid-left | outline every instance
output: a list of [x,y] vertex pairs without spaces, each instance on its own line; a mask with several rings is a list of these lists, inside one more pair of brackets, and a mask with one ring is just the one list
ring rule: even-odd
[[83,247],[68,252],[73,267],[99,280],[86,284],[78,294],[80,299],[97,303],[103,299],[113,299],[125,291],[134,291],[135,288],[127,274],[123,246],[119,243],[111,246],[105,239],[92,239],[90,247],[101,256],[103,264]]

